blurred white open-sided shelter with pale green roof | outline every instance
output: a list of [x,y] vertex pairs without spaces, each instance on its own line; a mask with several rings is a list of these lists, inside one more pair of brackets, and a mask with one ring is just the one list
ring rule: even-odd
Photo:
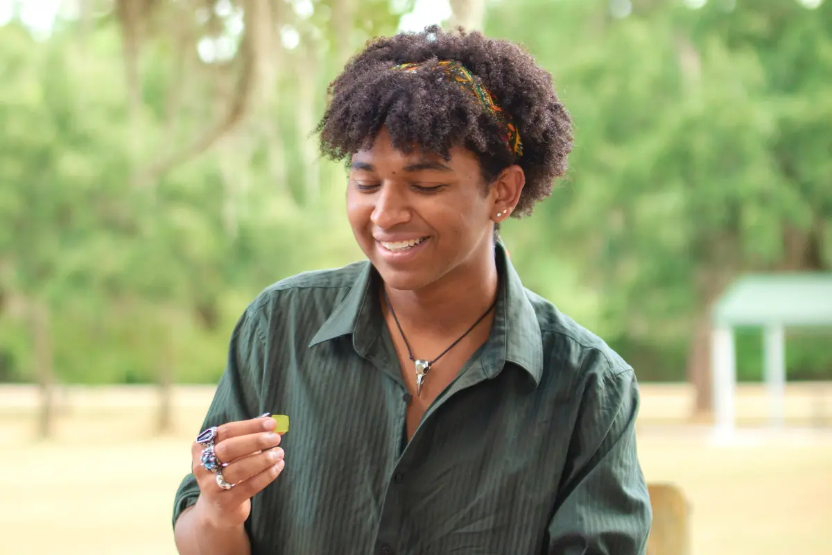
[[745,275],[726,290],[713,311],[712,341],[715,435],[735,434],[735,326],[760,326],[770,426],[785,420],[785,328],[832,327],[832,272]]

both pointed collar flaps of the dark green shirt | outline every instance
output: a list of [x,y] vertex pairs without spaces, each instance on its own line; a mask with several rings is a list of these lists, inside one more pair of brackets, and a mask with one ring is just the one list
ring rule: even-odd
[[[537,313],[522,285],[520,276],[508,260],[505,248],[496,245],[500,275],[494,322],[483,356],[489,378],[496,377],[506,362],[517,364],[539,384],[543,372],[543,344]],[[355,279],[349,294],[335,308],[310,341],[309,346],[352,334],[355,351],[364,356],[379,337],[382,318],[379,307],[379,275],[369,261]]]

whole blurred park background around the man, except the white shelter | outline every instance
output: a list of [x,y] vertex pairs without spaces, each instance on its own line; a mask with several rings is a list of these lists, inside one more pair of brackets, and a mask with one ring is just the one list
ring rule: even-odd
[[326,86],[430,23],[552,72],[571,168],[503,237],[636,369],[642,465],[683,495],[690,553],[832,553],[832,325],[785,329],[775,429],[764,330],[735,327],[741,433],[711,434],[726,290],[829,279],[828,0],[0,0],[0,553],[176,553],[235,320],[361,258],[311,135]]

